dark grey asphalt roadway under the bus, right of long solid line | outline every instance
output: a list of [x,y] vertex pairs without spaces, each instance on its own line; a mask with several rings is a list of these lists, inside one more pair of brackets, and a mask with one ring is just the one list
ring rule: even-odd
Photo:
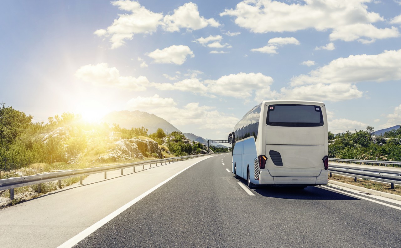
[[401,246],[398,209],[320,186],[250,196],[230,167],[231,154],[199,162],[76,247]]

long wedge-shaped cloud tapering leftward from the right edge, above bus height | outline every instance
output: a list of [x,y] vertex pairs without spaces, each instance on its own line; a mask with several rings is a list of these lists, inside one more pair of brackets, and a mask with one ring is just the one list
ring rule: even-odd
[[377,55],[350,55],[338,58],[326,66],[312,70],[308,75],[292,78],[291,85],[332,84],[357,82],[384,82],[401,79],[401,49],[384,51]]

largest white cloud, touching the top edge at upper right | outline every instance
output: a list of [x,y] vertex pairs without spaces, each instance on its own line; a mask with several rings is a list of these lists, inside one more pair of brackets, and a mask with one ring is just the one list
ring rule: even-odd
[[[368,12],[369,0],[307,0],[305,4],[286,4],[272,0],[245,0],[235,9],[226,9],[220,16],[234,16],[238,26],[255,33],[295,32],[314,28],[331,30],[331,40],[360,42],[399,37],[398,29],[377,28],[383,22],[378,13]],[[288,17],[291,18],[288,18]]]

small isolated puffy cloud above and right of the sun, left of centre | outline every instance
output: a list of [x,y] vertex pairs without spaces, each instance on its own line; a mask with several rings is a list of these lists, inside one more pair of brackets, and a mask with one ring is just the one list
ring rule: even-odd
[[158,64],[178,64],[182,65],[187,56],[194,57],[194,53],[188,46],[172,45],[163,50],[156,49],[147,54],[150,58],[154,59]]

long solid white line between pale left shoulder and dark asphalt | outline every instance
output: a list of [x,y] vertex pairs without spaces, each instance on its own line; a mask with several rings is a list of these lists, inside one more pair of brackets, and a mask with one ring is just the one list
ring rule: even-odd
[[[203,158],[202,160],[205,160],[207,158]],[[190,166],[188,166],[187,168],[185,168],[184,170],[194,166],[195,164],[201,162],[202,160],[199,160],[198,162],[191,164]],[[181,172],[184,172],[184,170],[181,170],[180,172],[177,172],[175,175],[171,176],[170,178],[164,180],[163,182],[161,182],[160,184],[154,186],[153,188],[151,188],[150,190],[146,191],[145,193],[141,194],[140,196],[138,196],[137,198],[135,198],[134,200],[128,202],[127,204],[125,204],[124,206],[120,207],[119,209],[115,210],[114,212],[112,212],[111,214],[107,215],[106,217],[104,217],[103,219],[99,220],[98,222],[96,222],[95,224],[93,224],[92,226],[89,226],[88,228],[86,228],[85,230],[83,230],[82,232],[80,232],[79,234],[75,235],[74,237],[70,238],[69,240],[67,240],[66,242],[64,242],[63,244],[61,244],[58,248],[71,248],[73,246],[75,246],[75,244],[77,244],[79,241],[83,240],[84,238],[86,238],[87,236],[89,236],[91,233],[95,232],[97,229],[99,229],[101,226],[103,226],[104,224],[106,224],[107,222],[109,222],[110,220],[112,220],[115,216],[121,214],[122,212],[124,212],[127,208],[129,208],[130,206],[136,204],[139,200],[141,200],[142,198],[144,198],[145,196],[147,196],[148,194],[152,193],[154,190],[156,190],[157,188],[159,188],[160,186],[162,186],[163,184],[165,184],[166,182],[170,181],[171,179],[173,179],[174,177],[178,176],[178,174],[180,174]]]

